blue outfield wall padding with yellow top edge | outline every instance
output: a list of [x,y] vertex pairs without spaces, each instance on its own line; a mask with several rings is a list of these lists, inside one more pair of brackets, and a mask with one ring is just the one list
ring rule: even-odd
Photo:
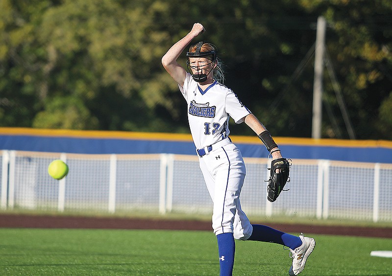
[[[243,157],[267,158],[255,137],[230,136]],[[392,142],[276,138],[282,155],[291,159],[392,163]],[[80,154],[186,154],[196,155],[190,135],[0,128],[0,150]]]

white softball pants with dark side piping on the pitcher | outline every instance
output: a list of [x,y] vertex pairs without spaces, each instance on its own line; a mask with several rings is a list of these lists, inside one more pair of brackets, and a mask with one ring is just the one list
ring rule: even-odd
[[240,150],[233,143],[213,148],[199,157],[199,166],[214,203],[214,233],[233,233],[235,239],[247,240],[253,228],[241,209],[240,193],[246,169]]

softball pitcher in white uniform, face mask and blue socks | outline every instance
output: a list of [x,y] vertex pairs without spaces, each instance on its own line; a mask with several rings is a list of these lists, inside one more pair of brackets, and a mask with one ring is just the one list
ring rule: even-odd
[[282,159],[278,146],[256,116],[222,84],[224,76],[214,45],[204,42],[192,45],[187,52],[188,71],[177,63],[184,49],[204,31],[202,24],[195,23],[192,30],[167,51],[162,64],[178,83],[188,104],[189,127],[199,166],[213,201],[212,227],[218,239],[220,275],[233,273],[234,239],[287,246],[293,258],[289,275],[298,275],[315,248],[315,240],[303,234],[297,237],[268,226],[250,224],[240,202],[245,163],[240,150],[229,138],[229,117],[236,123],[245,122],[263,141],[273,161]]

